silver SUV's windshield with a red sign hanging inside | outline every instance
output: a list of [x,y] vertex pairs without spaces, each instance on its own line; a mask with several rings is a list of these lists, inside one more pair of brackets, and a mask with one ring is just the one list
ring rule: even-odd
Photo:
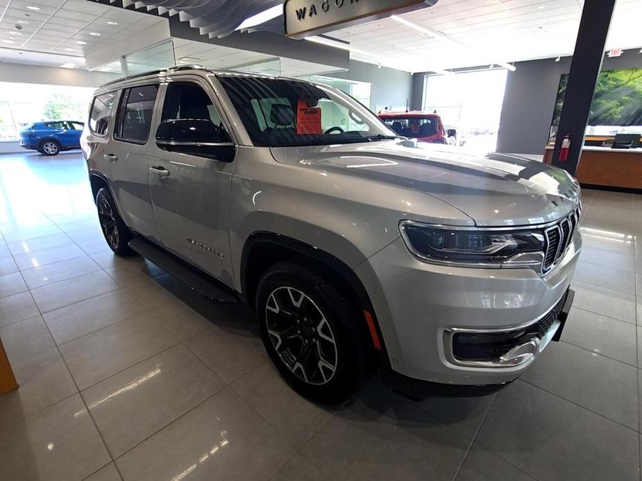
[[255,146],[319,146],[396,138],[357,100],[298,80],[219,77]]

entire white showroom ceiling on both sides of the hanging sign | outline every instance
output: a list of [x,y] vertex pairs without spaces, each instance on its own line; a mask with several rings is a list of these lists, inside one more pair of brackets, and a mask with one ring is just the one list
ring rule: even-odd
[[[180,1],[173,0],[173,4]],[[198,2],[192,3],[196,8]],[[200,3],[204,5],[205,1]],[[150,9],[142,3],[136,6]],[[349,42],[343,44],[344,49],[347,46],[350,57],[356,60],[406,71],[439,71],[569,55],[581,9],[580,0],[439,0],[432,8],[407,13],[397,20],[384,19],[328,35]],[[642,0],[618,0],[609,48],[640,48],[640,18]],[[189,18],[183,15],[182,20],[187,24]],[[83,68],[85,55],[117,47],[141,30],[166,25],[167,21],[96,1],[0,0],[0,62],[74,64]],[[278,19],[271,24],[275,21]],[[210,34],[205,33],[203,40]],[[278,56],[276,52],[267,55],[187,40],[176,42],[178,60],[187,58],[183,62],[213,68],[269,62]],[[287,68],[289,75],[327,71],[326,66],[314,69],[308,63],[282,59],[281,67],[284,73]]]

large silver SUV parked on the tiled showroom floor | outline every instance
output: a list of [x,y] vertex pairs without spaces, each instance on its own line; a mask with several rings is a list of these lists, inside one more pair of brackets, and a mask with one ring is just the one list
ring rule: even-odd
[[344,399],[495,389],[559,338],[580,252],[563,170],[416,143],[350,96],[178,67],[95,93],[101,226],[194,290],[255,308],[287,381]]

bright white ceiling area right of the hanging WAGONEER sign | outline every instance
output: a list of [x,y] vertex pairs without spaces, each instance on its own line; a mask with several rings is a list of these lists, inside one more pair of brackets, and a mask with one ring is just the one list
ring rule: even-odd
[[[573,53],[582,4],[582,0],[439,0],[431,8],[402,15],[466,46],[426,37],[393,19],[328,35],[372,54],[351,53],[351,58],[366,62],[383,58],[407,71],[551,58]],[[607,49],[640,48],[641,20],[642,0],[618,0]]]

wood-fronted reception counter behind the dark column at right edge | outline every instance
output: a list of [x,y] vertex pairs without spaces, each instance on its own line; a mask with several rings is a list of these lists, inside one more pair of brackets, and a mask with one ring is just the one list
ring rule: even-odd
[[[547,146],[546,164],[550,164],[552,153],[552,146]],[[585,146],[575,177],[580,184],[642,190],[642,148]]]

